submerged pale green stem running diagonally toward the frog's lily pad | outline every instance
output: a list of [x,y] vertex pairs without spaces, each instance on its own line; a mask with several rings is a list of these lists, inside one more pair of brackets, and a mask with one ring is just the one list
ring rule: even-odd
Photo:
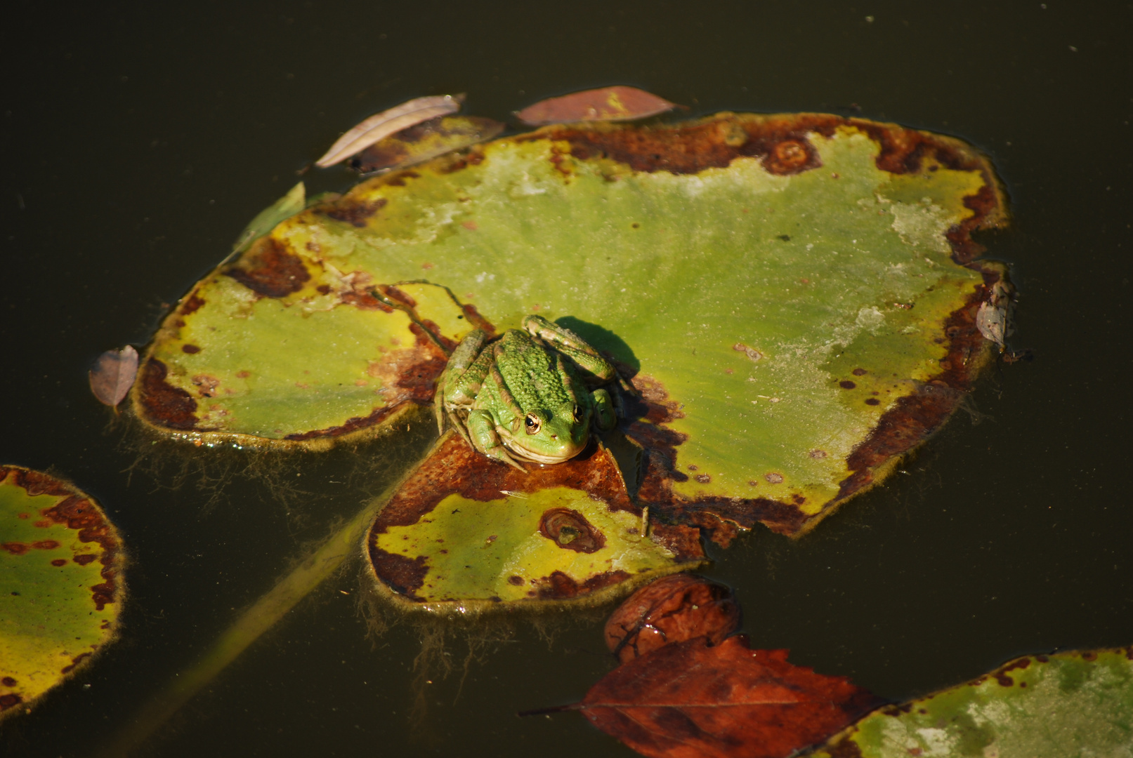
[[127,756],[137,750],[162,724],[235,661],[262,634],[272,628],[310,591],[330,577],[358,551],[363,533],[390,492],[374,498],[291,574],[280,579],[256,604],[236,620],[195,664],[173,675],[114,740],[99,755]]

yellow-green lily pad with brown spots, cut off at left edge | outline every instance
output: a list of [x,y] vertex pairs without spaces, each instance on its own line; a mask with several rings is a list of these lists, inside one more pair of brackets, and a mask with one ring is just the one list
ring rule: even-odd
[[0,718],[31,708],[118,636],[123,553],[73,485],[0,466]]

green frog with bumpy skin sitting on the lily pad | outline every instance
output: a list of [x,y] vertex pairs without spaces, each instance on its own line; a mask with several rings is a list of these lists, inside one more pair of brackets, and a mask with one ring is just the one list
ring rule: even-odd
[[542,316],[492,342],[476,329],[437,380],[437,429],[448,420],[472,449],[520,471],[517,459],[562,463],[582,451],[591,427],[617,423],[616,394],[603,388],[614,381],[629,387],[598,351]]

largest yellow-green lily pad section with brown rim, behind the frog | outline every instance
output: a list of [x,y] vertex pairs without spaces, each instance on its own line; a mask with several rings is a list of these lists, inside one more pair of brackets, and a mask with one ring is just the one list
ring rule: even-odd
[[[546,127],[280,223],[167,319],[134,407],[204,441],[373,434],[429,402],[472,313],[538,312],[632,374],[640,505],[722,544],[799,535],[972,386],[1003,270],[970,234],[1005,219],[985,157],[895,124]],[[390,285],[445,294],[404,309]]]

